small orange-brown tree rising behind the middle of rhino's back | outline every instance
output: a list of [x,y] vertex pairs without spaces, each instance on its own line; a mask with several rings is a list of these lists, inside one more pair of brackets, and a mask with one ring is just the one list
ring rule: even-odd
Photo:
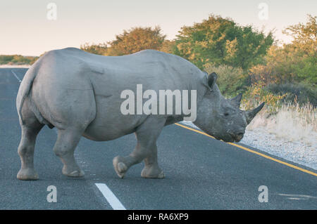
[[145,49],[159,50],[166,35],[161,34],[161,28],[135,27],[124,30],[123,34],[116,35],[114,41],[109,41],[107,55],[127,55]]

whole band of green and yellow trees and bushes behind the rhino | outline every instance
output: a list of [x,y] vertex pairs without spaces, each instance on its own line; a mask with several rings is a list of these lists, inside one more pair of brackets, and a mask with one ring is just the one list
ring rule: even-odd
[[[264,34],[251,25],[210,15],[202,22],[182,27],[173,40],[166,39],[160,27],[132,27],[112,41],[83,44],[80,48],[111,56],[144,49],[173,53],[201,70],[216,72],[220,91],[227,97],[244,93],[248,104],[264,100],[268,107],[277,107],[296,100],[299,105],[309,102],[316,107],[316,30],[316,16],[308,15],[306,24],[283,31],[292,37],[292,43],[278,46],[271,32]],[[37,57],[0,55],[0,65],[32,64],[35,60]]]

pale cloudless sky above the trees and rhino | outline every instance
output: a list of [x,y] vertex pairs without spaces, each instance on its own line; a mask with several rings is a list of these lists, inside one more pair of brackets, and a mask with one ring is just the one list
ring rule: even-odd
[[[48,20],[47,5],[55,3],[57,19]],[[260,20],[259,4],[268,6],[268,20]],[[282,29],[306,22],[317,14],[316,0],[0,0],[0,55],[40,55],[44,51],[86,42],[104,43],[131,27],[159,25],[168,39],[184,25],[201,22],[210,14],[254,25],[290,42]]]

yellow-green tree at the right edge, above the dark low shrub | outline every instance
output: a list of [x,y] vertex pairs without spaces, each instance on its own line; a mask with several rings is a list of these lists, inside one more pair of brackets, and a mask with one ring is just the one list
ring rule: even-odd
[[317,84],[316,16],[309,15],[306,24],[291,25],[284,30],[293,37],[291,44],[272,46],[263,58],[263,65],[250,69],[251,81],[265,84]]

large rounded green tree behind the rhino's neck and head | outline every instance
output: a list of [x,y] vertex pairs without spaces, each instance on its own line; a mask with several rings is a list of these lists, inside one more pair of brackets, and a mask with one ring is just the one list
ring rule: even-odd
[[247,70],[260,62],[272,44],[271,32],[265,35],[251,26],[242,27],[231,19],[211,15],[208,20],[182,27],[173,53],[201,69],[209,62]]

